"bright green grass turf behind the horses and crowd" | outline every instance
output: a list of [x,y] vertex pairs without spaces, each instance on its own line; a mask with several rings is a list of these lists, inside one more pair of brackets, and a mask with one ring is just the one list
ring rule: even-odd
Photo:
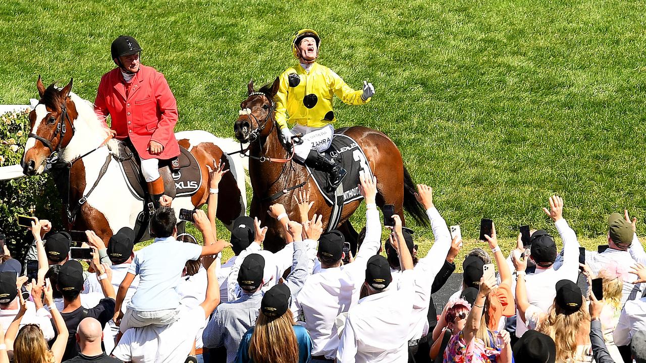
[[610,212],[646,211],[642,10],[617,0],[0,0],[0,103],[35,97],[38,74],[74,77],[93,100],[113,67],[110,42],[130,34],[178,99],[176,129],[232,137],[245,83],[292,65],[291,34],[311,27],[320,63],[352,87],[375,85],[366,106],[337,100],[336,126],[388,134],[467,240],[482,217],[506,245],[522,223],[556,233],[541,207],[557,193],[595,249]]

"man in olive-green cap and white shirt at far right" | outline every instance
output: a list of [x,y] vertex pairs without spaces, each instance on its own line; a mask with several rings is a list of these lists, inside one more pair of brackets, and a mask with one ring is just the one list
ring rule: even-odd
[[[586,254],[586,262],[592,270],[592,275],[598,275],[608,265],[623,266],[625,269],[636,263],[646,264],[646,253],[637,238],[636,220],[630,222],[628,211],[624,216],[612,213],[608,217],[608,249],[599,254]],[[623,287],[621,289],[621,305],[628,300],[641,296],[646,284],[633,284],[636,276],[623,274]]]

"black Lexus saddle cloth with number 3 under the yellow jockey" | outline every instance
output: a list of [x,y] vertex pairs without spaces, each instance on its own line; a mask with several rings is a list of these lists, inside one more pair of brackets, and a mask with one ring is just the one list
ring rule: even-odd
[[333,206],[329,219],[330,223],[328,224],[328,230],[331,230],[339,223],[342,206],[363,198],[358,186],[360,174],[363,173],[370,177],[373,174],[370,165],[368,165],[366,154],[359,147],[357,141],[344,134],[334,134],[332,144],[328,150],[321,152],[321,154],[333,160],[348,172],[337,191],[335,191],[329,188],[328,173],[306,167],[317,185],[318,191],[323,195],[326,202]]

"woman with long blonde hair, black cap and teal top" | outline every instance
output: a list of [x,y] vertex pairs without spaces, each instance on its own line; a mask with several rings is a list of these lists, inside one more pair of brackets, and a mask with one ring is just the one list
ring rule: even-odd
[[256,326],[242,337],[236,363],[307,363],[312,340],[294,325],[289,287],[278,284],[262,296]]

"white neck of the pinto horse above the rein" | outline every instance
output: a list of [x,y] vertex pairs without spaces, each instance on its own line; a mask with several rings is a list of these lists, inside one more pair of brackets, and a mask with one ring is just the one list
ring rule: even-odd
[[[96,118],[89,103],[76,95],[74,96],[72,99],[78,110],[78,117],[74,120],[74,136],[63,150],[63,160],[66,161],[78,158],[99,147],[109,132]],[[67,130],[67,132],[71,132],[71,130]]]

